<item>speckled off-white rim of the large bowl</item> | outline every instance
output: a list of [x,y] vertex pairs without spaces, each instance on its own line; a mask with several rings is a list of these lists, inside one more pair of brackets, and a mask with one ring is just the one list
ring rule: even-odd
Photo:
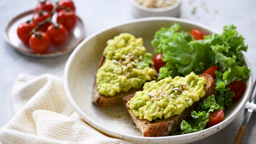
[[[152,21],[152,20],[170,20],[170,21],[173,21],[173,22],[183,22],[183,23],[193,24],[193,25],[196,25],[196,26],[204,28],[204,29],[208,29],[211,32],[216,32],[216,31],[212,30],[211,28],[208,28],[208,27],[206,27],[202,24],[199,24],[197,22],[193,22],[193,21],[190,21],[190,20],[184,20],[184,19],[180,19],[180,18],[172,18],[172,17],[139,18],[139,19],[136,19],[136,20],[131,20],[131,21],[123,23],[123,24],[118,24],[116,26],[112,26],[110,28],[105,28],[103,30],[100,30],[100,31],[88,36],[86,39],[84,39],[77,46],[77,48],[72,52],[70,57],[68,58],[68,61],[66,63],[65,69],[64,69],[64,89],[65,89],[67,98],[70,101],[70,104],[73,106],[73,108],[76,110],[76,112],[78,112],[78,114],[80,114],[80,116],[86,122],[88,122],[88,124],[90,124],[92,127],[96,128],[100,132],[102,132],[104,134],[107,134],[108,136],[111,136],[113,138],[120,138],[120,139],[128,140],[128,141],[131,141],[131,142],[135,142],[135,143],[144,143],[144,142],[147,142],[147,143],[155,143],[155,142],[165,143],[165,142],[170,142],[170,139],[174,143],[175,142],[184,143],[184,139],[188,140],[187,142],[194,142],[194,141],[206,138],[206,137],[208,137],[212,134],[215,134],[216,132],[222,130],[224,127],[226,127],[228,124],[230,124],[236,118],[236,116],[238,116],[238,114],[240,114],[240,112],[244,109],[244,106],[246,105],[246,102],[250,98],[250,95],[252,93],[252,80],[253,80],[252,79],[252,74],[248,78],[248,80],[246,80],[247,87],[246,87],[246,91],[244,93],[243,99],[239,100],[239,104],[237,106],[237,109],[229,117],[227,117],[221,123],[216,124],[215,126],[207,128],[205,130],[201,130],[199,132],[194,132],[194,133],[189,133],[189,134],[177,135],[177,136],[142,137],[142,136],[131,136],[131,135],[128,135],[128,134],[120,134],[120,133],[115,132],[113,130],[109,130],[108,128],[104,128],[104,126],[98,125],[96,122],[94,122],[92,119],[90,119],[90,117],[86,116],[86,114],[84,114],[82,112],[82,110],[74,102],[74,100],[72,98],[72,95],[70,93],[70,90],[68,88],[68,71],[69,71],[69,68],[71,66],[70,64],[72,63],[73,58],[75,58],[76,54],[79,53],[79,50],[82,48],[82,46],[86,42],[88,42],[90,39],[92,39],[94,36],[97,36],[98,34],[100,34],[101,32],[104,32],[104,31],[107,31],[107,30],[110,30],[110,29],[114,29],[115,27],[126,25],[126,24],[132,24],[132,23],[136,23],[136,22]],[[242,55],[242,56],[244,57],[244,55]],[[249,65],[249,63],[248,63],[248,61],[246,60],[245,57],[244,57],[244,60],[245,60],[246,66],[249,69],[251,69],[250,65]]]

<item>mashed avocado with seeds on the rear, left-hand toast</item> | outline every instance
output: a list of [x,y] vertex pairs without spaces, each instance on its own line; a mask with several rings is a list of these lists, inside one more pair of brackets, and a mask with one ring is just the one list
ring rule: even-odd
[[100,94],[114,96],[156,78],[155,70],[150,68],[152,54],[146,53],[142,38],[122,33],[107,44],[103,52],[105,62],[96,74]]

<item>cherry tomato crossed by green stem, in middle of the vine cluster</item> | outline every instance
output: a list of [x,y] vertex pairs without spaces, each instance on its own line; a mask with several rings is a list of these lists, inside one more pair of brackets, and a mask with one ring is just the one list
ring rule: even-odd
[[[36,12],[34,13],[34,16],[33,16],[33,22],[35,24],[39,24],[40,22],[43,22],[44,20],[46,20],[47,18],[50,18],[51,16],[52,14],[50,14],[49,12]],[[46,22],[45,24],[40,26],[40,28],[38,28],[37,31],[44,32],[47,29],[47,27],[50,25],[51,25],[50,22]]]

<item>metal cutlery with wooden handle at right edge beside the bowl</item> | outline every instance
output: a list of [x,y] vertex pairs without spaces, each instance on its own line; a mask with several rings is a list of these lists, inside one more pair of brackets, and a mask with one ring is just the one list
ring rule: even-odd
[[244,107],[247,109],[246,116],[244,118],[244,121],[242,122],[242,125],[240,126],[240,129],[238,130],[238,133],[236,134],[236,138],[233,142],[233,144],[240,144],[242,141],[242,138],[244,136],[244,132],[247,128],[248,122],[252,116],[252,112],[256,111],[256,104],[255,104],[255,95],[254,90],[255,90],[255,85],[256,85],[256,80],[253,84],[253,89],[252,89],[252,96],[250,97],[250,100],[246,103],[246,106]]

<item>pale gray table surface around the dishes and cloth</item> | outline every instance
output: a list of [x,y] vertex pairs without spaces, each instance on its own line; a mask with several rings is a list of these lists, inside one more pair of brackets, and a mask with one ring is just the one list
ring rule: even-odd
[[[16,15],[34,9],[36,0],[0,0],[0,128],[13,116],[12,87],[20,73],[39,76],[49,73],[63,78],[64,67],[70,54],[56,58],[31,58],[14,51],[4,40],[4,28]],[[119,23],[135,19],[130,0],[74,0],[76,14],[86,26],[87,36]],[[256,1],[255,0],[183,0],[180,18],[199,22],[222,32],[224,25],[234,24],[245,38],[248,51],[244,52],[256,76]],[[255,79],[255,78],[254,78]],[[244,119],[246,111],[216,134],[194,144],[231,144]],[[256,114],[252,114],[242,143],[256,143]]]

